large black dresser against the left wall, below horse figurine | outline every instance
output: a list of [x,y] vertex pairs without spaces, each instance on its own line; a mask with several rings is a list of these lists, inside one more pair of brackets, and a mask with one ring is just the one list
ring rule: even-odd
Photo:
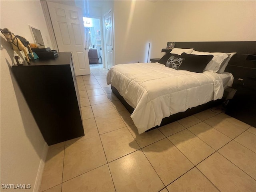
[[84,136],[71,53],[12,66],[12,72],[48,145]]

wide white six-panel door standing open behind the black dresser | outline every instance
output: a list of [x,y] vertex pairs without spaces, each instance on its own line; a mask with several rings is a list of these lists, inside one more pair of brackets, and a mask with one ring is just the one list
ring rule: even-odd
[[90,74],[82,10],[59,3],[47,4],[59,52],[72,53],[76,76]]

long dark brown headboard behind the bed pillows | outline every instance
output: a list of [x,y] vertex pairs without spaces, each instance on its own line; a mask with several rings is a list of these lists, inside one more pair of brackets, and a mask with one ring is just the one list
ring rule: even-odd
[[256,41],[176,42],[175,47],[203,52],[236,52],[225,71],[232,73],[234,78],[256,78],[256,61],[246,60],[248,55],[256,55]]

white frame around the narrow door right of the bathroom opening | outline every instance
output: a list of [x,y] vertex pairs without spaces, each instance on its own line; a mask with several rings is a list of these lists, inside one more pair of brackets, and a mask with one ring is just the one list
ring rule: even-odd
[[[113,39],[113,62],[114,62],[114,65],[116,65],[116,49],[115,49],[115,22],[114,22],[114,12],[112,10],[112,8],[110,8],[110,10],[108,10],[103,16],[102,16],[102,25],[104,26],[104,38],[106,39],[106,28],[105,28],[105,16],[112,11],[112,31],[113,31],[113,36],[112,36],[112,39]],[[104,60],[107,61],[107,46],[106,44],[104,43]],[[113,66],[114,66],[113,65]],[[108,68],[108,66],[106,65],[106,69]]]

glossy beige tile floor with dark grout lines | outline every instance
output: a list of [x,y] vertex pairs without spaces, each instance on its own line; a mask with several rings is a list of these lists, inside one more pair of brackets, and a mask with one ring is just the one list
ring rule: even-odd
[[85,136],[49,147],[40,191],[256,191],[256,128],[206,110],[139,135],[107,72],[76,77]]

